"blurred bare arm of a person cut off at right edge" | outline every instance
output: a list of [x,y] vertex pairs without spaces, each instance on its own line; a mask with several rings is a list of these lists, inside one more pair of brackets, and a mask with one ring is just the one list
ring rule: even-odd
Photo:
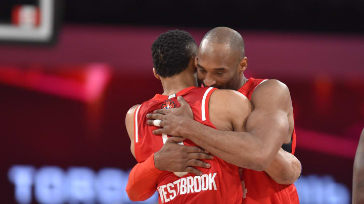
[[364,129],[355,154],[352,196],[353,204],[364,203]]

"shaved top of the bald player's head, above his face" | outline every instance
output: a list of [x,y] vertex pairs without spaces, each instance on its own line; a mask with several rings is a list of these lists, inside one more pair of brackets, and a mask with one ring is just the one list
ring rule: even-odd
[[202,38],[200,50],[204,51],[204,48],[211,44],[224,45],[230,49],[230,53],[234,54],[238,60],[245,57],[245,47],[243,37],[235,30],[228,27],[216,27]]

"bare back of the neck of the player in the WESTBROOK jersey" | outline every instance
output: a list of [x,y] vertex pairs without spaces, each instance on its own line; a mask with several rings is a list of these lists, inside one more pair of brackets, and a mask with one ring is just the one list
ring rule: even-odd
[[161,79],[163,86],[163,94],[162,95],[172,95],[183,89],[186,89],[191,86],[197,86],[197,82],[195,77],[185,76],[185,73],[180,73],[173,77],[167,77]]

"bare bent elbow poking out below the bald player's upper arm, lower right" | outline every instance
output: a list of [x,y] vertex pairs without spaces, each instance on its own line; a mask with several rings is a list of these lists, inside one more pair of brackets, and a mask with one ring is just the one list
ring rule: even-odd
[[301,163],[298,159],[280,149],[272,163],[264,171],[277,183],[289,185],[298,179],[301,170]]

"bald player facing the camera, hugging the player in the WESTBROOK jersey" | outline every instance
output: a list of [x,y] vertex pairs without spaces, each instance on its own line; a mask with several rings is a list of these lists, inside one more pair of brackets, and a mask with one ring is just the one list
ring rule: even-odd
[[[287,86],[278,80],[246,79],[243,38],[226,27],[214,28],[204,36],[195,65],[204,86],[237,90],[251,100],[254,110],[247,119],[247,132],[202,125],[190,116],[189,105],[181,102],[180,108],[160,109],[147,115],[162,120],[163,128],[154,130],[154,134],[187,138],[216,157],[244,167],[241,177],[247,193],[243,203],[299,203],[293,184],[278,184],[269,172],[263,171],[281,147],[292,154],[295,151],[296,134]],[[152,125],[153,120],[148,124]]]

